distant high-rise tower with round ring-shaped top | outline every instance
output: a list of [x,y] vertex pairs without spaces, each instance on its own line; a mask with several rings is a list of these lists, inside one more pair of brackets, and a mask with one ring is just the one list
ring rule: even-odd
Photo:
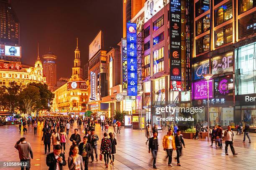
[[44,75],[46,76],[46,83],[49,90],[55,90],[57,78],[56,78],[56,63],[54,60],[57,56],[50,50],[42,56],[45,61],[43,63]]

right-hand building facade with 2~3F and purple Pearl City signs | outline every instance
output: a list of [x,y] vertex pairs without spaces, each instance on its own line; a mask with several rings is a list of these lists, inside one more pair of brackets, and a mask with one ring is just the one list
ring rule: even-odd
[[[192,101],[207,106],[202,75],[213,74],[210,125],[256,124],[255,7],[255,0],[194,1]],[[206,113],[197,113],[196,122],[205,121]]]

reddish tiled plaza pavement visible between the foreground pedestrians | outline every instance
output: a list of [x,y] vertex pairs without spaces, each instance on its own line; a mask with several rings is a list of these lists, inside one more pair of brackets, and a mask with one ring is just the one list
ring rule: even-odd
[[[44,155],[44,145],[41,141],[42,123],[38,125],[37,135],[33,135],[33,128],[28,127],[28,133],[23,134],[19,132],[18,125],[5,125],[0,127],[0,161],[19,161],[18,150],[14,148],[15,142],[20,137],[25,137],[27,142],[31,143],[34,153],[34,159],[31,161],[31,170],[48,170],[46,166],[46,155]],[[77,128],[75,123],[74,128]],[[110,128],[109,132],[113,129]],[[226,156],[223,144],[223,149],[216,149],[209,147],[210,143],[207,140],[187,140],[185,139],[185,146],[182,150],[182,157],[180,158],[181,167],[176,166],[173,153],[173,167],[167,166],[165,160],[166,152],[162,148],[162,138],[167,131],[159,133],[159,152],[157,157],[157,164],[159,170],[174,169],[174,170],[256,170],[256,134],[250,133],[252,143],[241,143],[243,135],[235,134],[235,150],[237,156],[233,156],[230,148],[228,152],[230,155]],[[73,133],[73,129],[69,130]],[[81,130],[79,130],[81,133]],[[102,138],[103,133],[100,131],[100,126],[97,125],[96,133]],[[69,134],[70,136],[71,134]],[[83,135],[81,135],[81,138]],[[100,139],[101,140],[101,139]],[[98,142],[100,148],[100,140]],[[145,144],[146,137],[143,130],[132,130],[131,128],[121,129],[121,133],[117,134],[117,154],[115,155],[115,165],[109,165],[108,169],[115,170],[152,170],[152,156],[148,153],[148,146]],[[71,142],[66,144],[65,159],[67,160],[68,149]],[[98,153],[99,152],[98,148]],[[52,151],[52,146],[51,146]],[[89,163],[90,170],[104,170],[104,161]],[[0,168],[0,170],[18,170],[20,168]],[[68,170],[68,167],[64,167]]]

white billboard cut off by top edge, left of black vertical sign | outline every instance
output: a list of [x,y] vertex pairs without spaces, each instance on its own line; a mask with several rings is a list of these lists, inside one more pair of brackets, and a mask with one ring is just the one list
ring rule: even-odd
[[164,0],[147,0],[144,4],[144,22],[146,23],[164,7]]

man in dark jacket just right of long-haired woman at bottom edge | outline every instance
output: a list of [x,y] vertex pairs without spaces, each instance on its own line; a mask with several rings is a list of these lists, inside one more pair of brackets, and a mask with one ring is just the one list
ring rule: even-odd
[[88,137],[84,136],[83,143],[79,144],[79,155],[83,158],[84,170],[88,170],[89,157],[92,153],[92,147],[90,143],[87,143]]

